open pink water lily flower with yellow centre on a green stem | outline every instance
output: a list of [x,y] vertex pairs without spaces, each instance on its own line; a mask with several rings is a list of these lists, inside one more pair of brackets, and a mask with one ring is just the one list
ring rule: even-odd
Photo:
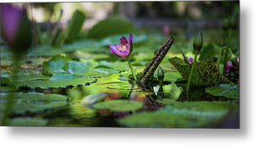
[[132,51],[132,34],[129,36],[129,40],[125,36],[120,38],[120,44],[113,44],[109,46],[111,49],[110,53],[114,53],[117,56],[122,57],[122,59],[127,58]]

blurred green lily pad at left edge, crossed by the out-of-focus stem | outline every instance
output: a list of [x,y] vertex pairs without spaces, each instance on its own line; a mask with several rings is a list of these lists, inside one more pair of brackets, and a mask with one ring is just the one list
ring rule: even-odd
[[[8,93],[2,93],[1,98],[4,108]],[[62,109],[67,106],[67,97],[57,94],[44,94],[38,92],[15,93],[15,104],[12,106],[12,114],[39,114]]]

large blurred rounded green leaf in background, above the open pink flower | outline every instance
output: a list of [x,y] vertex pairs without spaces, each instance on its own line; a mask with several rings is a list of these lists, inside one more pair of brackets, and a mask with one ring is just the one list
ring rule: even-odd
[[105,36],[111,36],[115,34],[126,34],[134,31],[134,27],[129,20],[125,20],[121,17],[110,17],[106,20],[102,20],[94,25],[88,36],[90,38],[103,38]]

